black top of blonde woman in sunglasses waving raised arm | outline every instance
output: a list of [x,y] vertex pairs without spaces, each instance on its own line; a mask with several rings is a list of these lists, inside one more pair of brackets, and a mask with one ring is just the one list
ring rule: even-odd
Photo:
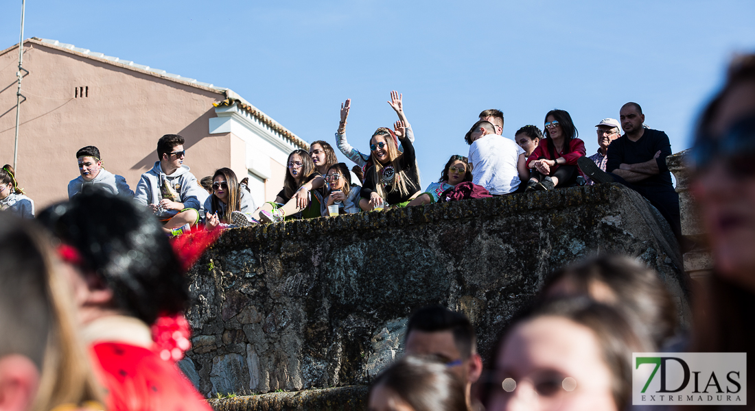
[[392,191],[393,182],[396,178],[396,173],[392,166],[384,167],[381,170],[380,176],[376,175],[375,167],[372,166],[365,172],[365,182],[362,184],[362,190],[359,192],[362,198],[370,199],[370,195],[375,191],[378,181],[383,184],[384,192],[387,193],[387,198],[384,198],[387,204],[399,204],[408,201],[415,192],[420,190],[420,176],[417,170],[417,158],[414,155],[414,145],[411,144],[409,139],[403,139],[401,140],[401,146],[404,148],[404,154],[399,157],[399,164],[407,176],[406,189],[408,189],[408,193],[401,195],[398,187],[396,187],[396,191]]

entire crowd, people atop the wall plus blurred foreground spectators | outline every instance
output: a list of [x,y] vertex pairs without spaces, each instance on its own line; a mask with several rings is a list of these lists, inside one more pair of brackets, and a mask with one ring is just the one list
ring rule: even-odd
[[[349,103],[341,111],[339,148],[350,147]],[[652,203],[669,198],[660,161],[669,153],[667,137],[643,127],[635,103],[621,108],[624,136],[616,136],[617,121],[600,121],[601,149],[593,158],[575,142],[569,113],[553,110],[545,135],[522,127],[516,156],[498,162],[486,150],[510,146],[498,140],[503,121],[482,112],[467,133],[470,146],[482,140],[470,147],[474,154],[451,157],[440,181],[422,193],[400,94],[392,94],[390,103],[399,113],[394,129],[376,131],[370,155],[349,149],[350,159],[362,162],[356,170],[331,164],[328,143],[313,143],[310,152],[289,156],[275,204],[255,207],[246,185],[227,168],[197,182],[182,164],[183,139],[168,135],[158,144],[160,161],[143,174],[135,194],[121,176],[102,168],[100,153],[90,146],[77,153],[81,176],[69,184],[69,201],[33,221],[0,212],[0,409],[209,411],[175,362],[190,348],[183,317],[186,270],[223,225],[322,215],[336,204],[339,213],[341,205],[346,213],[427,204],[445,195],[444,185],[485,175],[496,180],[497,173],[475,170],[500,164],[516,165],[511,180],[496,182],[514,192],[515,178],[526,181],[526,191],[575,184],[584,174],[587,183],[624,183]],[[464,314],[439,305],[414,311],[405,353],[373,379],[368,409],[619,411],[632,406],[633,352],[749,351],[755,342],[748,323],[755,314],[755,180],[747,168],[755,155],[749,151],[755,151],[753,125],[755,55],[747,55],[732,63],[726,84],[704,109],[690,151],[692,192],[715,269],[691,284],[689,333],[655,271],[628,257],[596,256],[551,273],[531,305],[504,328],[486,363]],[[643,161],[641,153],[651,156]],[[521,164],[532,171],[520,175]],[[361,189],[352,185],[355,179],[362,180]],[[12,203],[8,207],[21,216],[34,213],[12,167],[2,168],[0,183],[3,204]],[[97,188],[88,189],[90,183]],[[165,235],[202,218],[208,230],[193,237],[171,241]],[[755,385],[742,389],[752,395]]]

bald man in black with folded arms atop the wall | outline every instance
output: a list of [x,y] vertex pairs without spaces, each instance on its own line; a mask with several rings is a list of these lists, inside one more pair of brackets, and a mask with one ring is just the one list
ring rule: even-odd
[[[666,157],[671,143],[663,131],[643,127],[645,115],[637,103],[626,103],[619,112],[624,135],[608,149],[606,171],[583,161],[580,167],[595,182],[621,182],[639,192],[666,218],[677,239],[682,238],[679,195],[673,189]],[[582,167],[584,164],[585,167]]]

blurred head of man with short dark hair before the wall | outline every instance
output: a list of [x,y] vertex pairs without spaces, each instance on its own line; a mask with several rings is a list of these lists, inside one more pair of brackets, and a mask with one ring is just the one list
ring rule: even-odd
[[471,404],[470,388],[482,373],[482,358],[467,316],[441,305],[420,308],[409,317],[404,343],[407,355],[434,355],[444,361],[464,383]]

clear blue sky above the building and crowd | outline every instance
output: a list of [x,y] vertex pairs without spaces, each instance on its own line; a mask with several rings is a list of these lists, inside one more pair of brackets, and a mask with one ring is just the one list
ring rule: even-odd
[[[17,43],[20,0],[0,4],[0,49]],[[423,185],[483,109],[504,136],[569,111],[588,155],[594,125],[627,101],[672,149],[735,52],[755,51],[755,2],[76,2],[28,0],[25,37],[53,38],[230,87],[307,141],[368,138],[404,94]],[[343,155],[339,158],[346,161]],[[348,161],[347,161],[348,162]],[[227,164],[218,164],[218,167]]]

